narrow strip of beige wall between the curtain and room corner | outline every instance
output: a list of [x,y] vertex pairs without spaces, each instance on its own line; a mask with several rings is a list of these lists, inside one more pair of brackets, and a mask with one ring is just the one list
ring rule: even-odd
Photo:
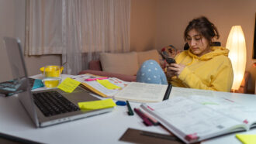
[[130,51],[152,50],[156,36],[157,0],[132,0]]

